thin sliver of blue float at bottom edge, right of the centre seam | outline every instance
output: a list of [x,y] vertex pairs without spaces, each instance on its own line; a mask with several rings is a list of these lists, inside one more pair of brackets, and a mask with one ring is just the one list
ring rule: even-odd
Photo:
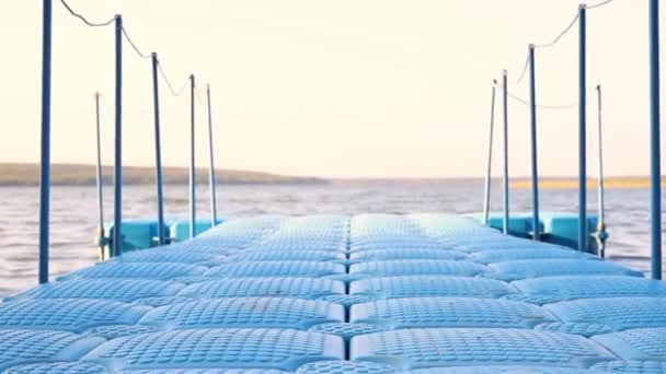
[[410,374],[605,374],[596,370],[552,366],[456,366],[418,369]]

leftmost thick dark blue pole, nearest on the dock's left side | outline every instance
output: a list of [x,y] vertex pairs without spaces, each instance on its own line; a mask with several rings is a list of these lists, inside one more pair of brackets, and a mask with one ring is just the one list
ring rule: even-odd
[[50,51],[51,0],[43,3],[42,31],[42,157],[39,168],[39,283],[48,282],[50,212]]

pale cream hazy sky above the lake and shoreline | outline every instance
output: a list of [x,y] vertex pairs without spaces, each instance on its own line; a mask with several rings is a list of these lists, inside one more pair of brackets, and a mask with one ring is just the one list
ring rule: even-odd
[[[173,85],[211,86],[216,166],[324,177],[471,177],[485,171],[492,80],[514,81],[529,43],[552,40],[575,0],[69,0],[92,21],[122,13]],[[596,3],[590,1],[589,3]],[[0,12],[0,162],[38,162],[42,1]],[[608,175],[648,173],[647,0],[588,11],[588,170],[594,86],[604,86]],[[666,22],[665,22],[666,23]],[[666,30],[663,30],[663,32]],[[666,40],[666,37],[663,38]],[[665,57],[666,58],[666,57]],[[124,163],[154,164],[150,61],[124,45]],[[577,26],[537,51],[538,102],[577,101]],[[114,30],[54,0],[53,161],[113,163]],[[161,86],[163,164],[188,164],[190,97]],[[510,91],[528,96],[526,82]],[[666,96],[666,95],[664,95]],[[666,104],[666,103],[664,103]],[[497,102],[500,108],[502,102]],[[529,114],[509,100],[509,172],[529,175]],[[666,106],[665,106],[666,107]],[[207,166],[206,107],[196,108]],[[576,175],[577,108],[538,114],[541,175]],[[497,112],[493,173],[502,164]],[[666,120],[666,119],[665,119]],[[664,152],[666,153],[666,152]]]

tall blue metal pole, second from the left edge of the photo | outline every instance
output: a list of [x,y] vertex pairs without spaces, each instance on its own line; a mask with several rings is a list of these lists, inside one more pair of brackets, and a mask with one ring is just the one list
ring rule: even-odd
[[123,16],[116,15],[116,128],[113,204],[113,256],[123,254]]

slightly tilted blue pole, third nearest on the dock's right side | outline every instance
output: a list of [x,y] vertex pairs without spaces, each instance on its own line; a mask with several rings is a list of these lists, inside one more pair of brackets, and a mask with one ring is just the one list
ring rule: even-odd
[[539,164],[537,157],[537,69],[533,44],[529,45],[529,107],[532,159],[532,238],[538,242],[541,236],[541,223],[539,220]]

